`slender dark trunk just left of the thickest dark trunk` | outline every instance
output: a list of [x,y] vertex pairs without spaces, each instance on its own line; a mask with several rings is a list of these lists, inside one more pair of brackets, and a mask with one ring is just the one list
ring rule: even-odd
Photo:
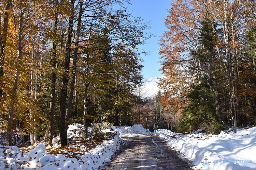
[[[56,6],[58,6],[59,0],[56,0]],[[55,16],[54,21],[54,34],[57,35],[57,26],[58,26],[58,12]],[[54,111],[55,111],[55,86],[56,86],[56,66],[57,66],[57,53],[56,53],[57,43],[53,41],[53,57],[52,57],[52,82],[51,82],[51,99],[50,99],[50,109],[49,109],[49,145],[53,146],[53,135],[54,135]]]

